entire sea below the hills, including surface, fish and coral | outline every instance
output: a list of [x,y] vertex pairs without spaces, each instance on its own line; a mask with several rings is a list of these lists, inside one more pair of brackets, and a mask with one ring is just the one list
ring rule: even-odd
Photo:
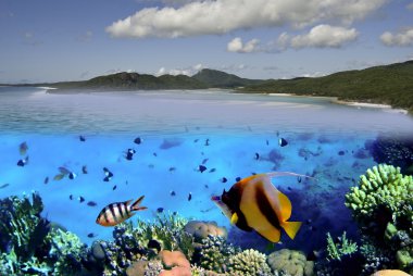
[[413,274],[398,110],[0,87],[0,275]]

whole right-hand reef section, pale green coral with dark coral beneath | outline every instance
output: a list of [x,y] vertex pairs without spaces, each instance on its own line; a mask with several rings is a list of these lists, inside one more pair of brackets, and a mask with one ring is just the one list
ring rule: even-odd
[[346,195],[346,205],[362,234],[363,275],[396,267],[412,274],[413,177],[392,165],[368,168]]

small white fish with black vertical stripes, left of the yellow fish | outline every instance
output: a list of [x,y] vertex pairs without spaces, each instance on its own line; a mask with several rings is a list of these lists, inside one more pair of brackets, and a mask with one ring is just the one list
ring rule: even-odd
[[132,200],[109,204],[100,211],[98,217],[96,218],[96,223],[102,226],[115,226],[123,223],[127,218],[135,215],[134,211],[147,209],[146,206],[139,206],[143,198],[145,196],[141,196],[133,204],[130,204]]

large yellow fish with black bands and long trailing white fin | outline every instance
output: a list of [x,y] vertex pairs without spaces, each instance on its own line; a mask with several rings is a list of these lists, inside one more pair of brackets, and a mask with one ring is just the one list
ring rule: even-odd
[[271,183],[275,176],[299,175],[288,172],[252,175],[234,184],[228,191],[224,189],[222,196],[213,196],[212,201],[242,230],[255,230],[271,242],[278,242],[284,228],[293,239],[301,222],[287,222],[291,216],[291,202]]

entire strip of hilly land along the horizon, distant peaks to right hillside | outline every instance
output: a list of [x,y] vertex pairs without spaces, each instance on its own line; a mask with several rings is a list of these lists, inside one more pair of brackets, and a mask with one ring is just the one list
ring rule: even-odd
[[[117,73],[83,81],[27,84],[65,89],[155,90],[155,89],[233,89],[243,93],[290,93],[337,97],[343,101],[389,104],[413,114],[413,61],[335,73],[323,77],[292,79],[248,79],[204,68],[193,76],[153,76]],[[59,90],[58,90],[59,91]]]

